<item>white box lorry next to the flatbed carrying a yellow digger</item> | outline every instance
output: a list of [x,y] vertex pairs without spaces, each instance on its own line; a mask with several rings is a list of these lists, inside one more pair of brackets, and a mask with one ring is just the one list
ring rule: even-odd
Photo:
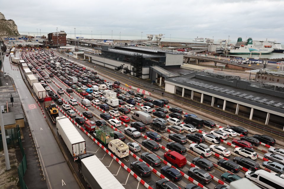
[[74,161],[78,156],[86,153],[86,143],[78,130],[65,116],[56,118],[56,128],[59,136],[63,139]]

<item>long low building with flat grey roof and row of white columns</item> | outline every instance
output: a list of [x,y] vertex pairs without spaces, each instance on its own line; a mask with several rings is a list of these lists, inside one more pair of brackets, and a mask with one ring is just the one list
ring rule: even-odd
[[166,92],[283,130],[284,88],[204,71],[168,77],[165,83]]

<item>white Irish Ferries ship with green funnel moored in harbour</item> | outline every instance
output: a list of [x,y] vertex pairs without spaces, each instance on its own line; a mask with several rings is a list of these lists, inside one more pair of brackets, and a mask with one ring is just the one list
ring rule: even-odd
[[253,41],[249,38],[243,41],[242,38],[238,38],[236,44],[231,44],[228,47],[229,54],[271,54],[273,53],[273,42],[270,41]]

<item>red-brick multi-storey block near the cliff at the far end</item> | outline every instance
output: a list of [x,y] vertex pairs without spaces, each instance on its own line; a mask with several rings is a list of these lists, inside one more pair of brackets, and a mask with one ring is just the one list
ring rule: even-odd
[[46,45],[49,47],[65,46],[66,36],[67,34],[64,31],[49,33]]

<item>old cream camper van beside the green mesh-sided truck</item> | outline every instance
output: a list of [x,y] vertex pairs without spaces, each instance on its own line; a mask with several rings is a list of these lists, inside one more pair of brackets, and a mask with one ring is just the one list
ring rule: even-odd
[[109,150],[116,154],[119,158],[124,158],[129,155],[129,147],[120,139],[109,141]]

